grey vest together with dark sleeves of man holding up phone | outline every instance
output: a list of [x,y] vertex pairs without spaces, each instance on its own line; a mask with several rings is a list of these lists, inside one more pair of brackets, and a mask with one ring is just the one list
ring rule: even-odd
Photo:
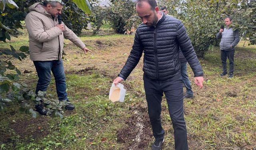
[[[224,31],[222,33],[218,32],[216,38],[221,38],[220,50],[234,50],[234,47],[239,42],[239,32],[238,30],[233,31],[232,28],[224,28]],[[232,45],[232,48],[230,47],[230,45]]]

